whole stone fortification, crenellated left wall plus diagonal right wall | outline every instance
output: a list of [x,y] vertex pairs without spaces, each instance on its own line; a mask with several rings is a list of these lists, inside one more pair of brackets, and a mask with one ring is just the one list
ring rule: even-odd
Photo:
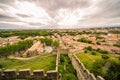
[[[61,76],[58,73],[58,65],[60,63],[60,53],[67,54],[68,50],[54,50],[53,54],[56,57],[56,68],[45,72],[43,69],[30,70],[30,69],[11,69],[2,70],[0,69],[0,80],[61,80]],[[68,54],[71,59],[72,65],[76,70],[78,80],[104,80],[101,76],[95,77],[94,74],[90,73],[85,68],[83,63],[77,58],[76,55]]]

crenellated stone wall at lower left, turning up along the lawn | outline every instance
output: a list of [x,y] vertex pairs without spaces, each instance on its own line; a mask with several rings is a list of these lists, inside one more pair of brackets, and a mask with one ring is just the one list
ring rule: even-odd
[[57,51],[56,68],[45,73],[43,69],[31,70],[31,69],[0,69],[0,80],[61,80],[58,73],[60,54]]

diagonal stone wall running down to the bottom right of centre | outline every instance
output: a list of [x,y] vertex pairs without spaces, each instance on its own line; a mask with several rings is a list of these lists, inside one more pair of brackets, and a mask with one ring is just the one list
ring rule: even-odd
[[104,80],[101,76],[94,76],[88,69],[85,68],[83,63],[76,57],[76,55],[69,55],[72,61],[73,67],[76,69],[78,80]]

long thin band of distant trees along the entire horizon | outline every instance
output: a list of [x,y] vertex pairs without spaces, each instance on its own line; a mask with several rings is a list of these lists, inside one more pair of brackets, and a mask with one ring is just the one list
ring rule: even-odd
[[19,36],[19,38],[24,39],[28,36],[50,36],[54,33],[57,33],[60,36],[63,36],[65,34],[68,35],[82,35],[82,34],[107,34],[106,32],[91,32],[91,31],[65,31],[65,32],[59,32],[59,31],[50,31],[50,30],[1,30],[0,31],[0,37],[6,38],[11,36]]

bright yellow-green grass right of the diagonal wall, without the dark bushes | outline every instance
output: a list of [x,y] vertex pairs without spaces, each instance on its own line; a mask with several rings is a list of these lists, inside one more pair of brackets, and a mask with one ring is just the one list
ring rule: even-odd
[[[98,53],[98,52],[96,52],[96,55],[92,55],[90,51],[87,53],[81,52],[76,55],[80,59],[80,61],[85,65],[85,67],[89,70],[92,69],[93,63],[96,60],[102,59],[102,54]],[[114,61],[118,62],[118,58],[116,56],[114,56],[113,54],[106,54],[106,55],[108,55],[110,57],[109,60],[114,60]]]

